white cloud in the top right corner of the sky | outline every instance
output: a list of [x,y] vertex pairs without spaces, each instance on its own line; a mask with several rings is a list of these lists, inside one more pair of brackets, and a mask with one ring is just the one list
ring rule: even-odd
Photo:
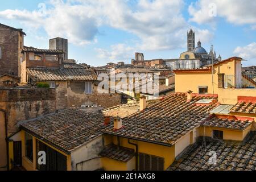
[[188,10],[190,20],[199,24],[212,23],[216,17],[234,24],[256,24],[255,9],[256,1],[251,0],[199,0],[191,3]]

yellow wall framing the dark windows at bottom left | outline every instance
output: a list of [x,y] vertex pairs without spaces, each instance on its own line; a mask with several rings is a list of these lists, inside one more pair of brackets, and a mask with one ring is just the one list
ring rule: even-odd
[[29,160],[26,157],[26,153],[25,153],[25,131],[20,131],[21,132],[21,137],[22,137],[22,166],[27,170],[27,171],[36,171],[36,140],[39,140],[40,142],[46,144],[48,147],[51,147],[53,150],[56,150],[57,152],[59,152],[60,154],[63,154],[64,156],[67,157],[67,171],[71,171],[71,155],[65,154],[63,151],[49,145],[46,142],[43,142],[42,140],[32,136],[33,139],[33,162],[31,162],[31,160]]

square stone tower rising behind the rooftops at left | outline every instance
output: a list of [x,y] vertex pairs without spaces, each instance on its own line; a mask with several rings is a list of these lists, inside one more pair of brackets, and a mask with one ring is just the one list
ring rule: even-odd
[[49,49],[63,50],[65,53],[64,60],[68,59],[68,39],[54,38],[49,39]]

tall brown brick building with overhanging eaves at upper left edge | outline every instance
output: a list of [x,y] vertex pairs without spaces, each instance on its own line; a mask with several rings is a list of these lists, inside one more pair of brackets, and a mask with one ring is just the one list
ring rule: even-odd
[[20,76],[24,36],[22,29],[0,23],[0,75]]

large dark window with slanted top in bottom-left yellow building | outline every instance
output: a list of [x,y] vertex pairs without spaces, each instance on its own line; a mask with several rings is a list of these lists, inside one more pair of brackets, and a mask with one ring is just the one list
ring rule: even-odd
[[[43,142],[36,140],[36,154],[39,151],[46,152],[46,165],[36,164],[36,168],[40,171],[67,171],[67,157],[60,154],[53,148],[47,146]],[[37,155],[37,158],[39,156]],[[38,160],[38,159],[37,159]]]

